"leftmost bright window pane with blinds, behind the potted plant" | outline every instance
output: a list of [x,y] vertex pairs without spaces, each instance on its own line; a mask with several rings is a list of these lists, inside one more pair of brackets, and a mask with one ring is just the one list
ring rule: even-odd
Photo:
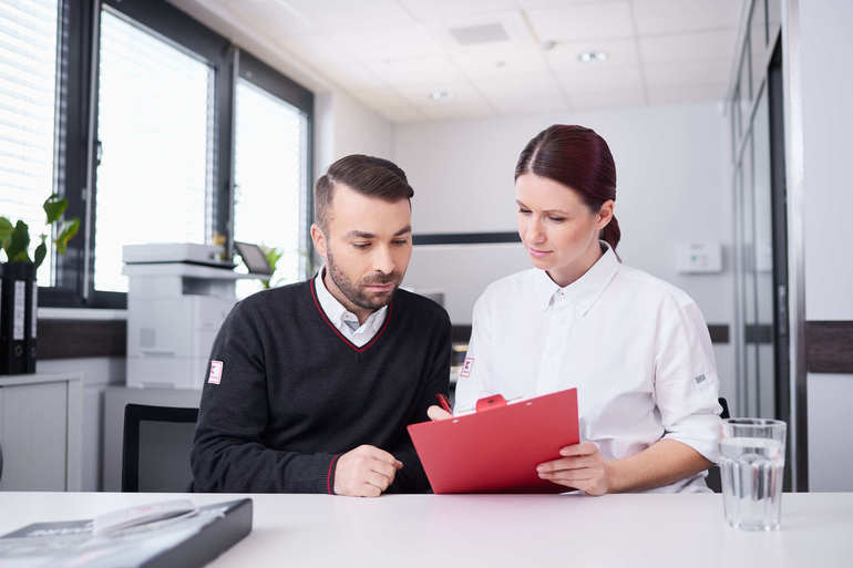
[[[0,215],[29,225],[30,258],[55,190],[58,14],[58,0],[0,0]],[[50,252],[39,286],[53,282]]]

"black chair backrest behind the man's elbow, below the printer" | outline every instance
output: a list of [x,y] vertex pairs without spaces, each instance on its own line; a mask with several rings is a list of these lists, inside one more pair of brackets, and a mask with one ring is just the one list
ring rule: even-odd
[[193,474],[198,409],[127,404],[124,407],[122,490],[182,493]]

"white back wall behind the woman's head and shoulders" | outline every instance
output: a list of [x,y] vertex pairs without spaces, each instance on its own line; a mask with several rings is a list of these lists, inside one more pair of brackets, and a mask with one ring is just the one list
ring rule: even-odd
[[[554,123],[593,127],[610,146],[624,261],[685,289],[709,322],[731,326],[731,169],[728,122],[716,103],[395,125],[393,158],[414,188],[414,231],[514,231],[515,161]],[[722,244],[723,272],[678,273],[674,245],[690,241]],[[469,323],[484,281],[527,266],[517,245],[415,247],[407,286],[443,290],[454,323]],[[732,347],[715,351],[731,397]]]

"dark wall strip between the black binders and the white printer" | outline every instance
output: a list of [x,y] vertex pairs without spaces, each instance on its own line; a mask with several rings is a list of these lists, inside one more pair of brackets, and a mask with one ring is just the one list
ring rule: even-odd
[[38,340],[39,359],[125,357],[127,322],[40,319]]

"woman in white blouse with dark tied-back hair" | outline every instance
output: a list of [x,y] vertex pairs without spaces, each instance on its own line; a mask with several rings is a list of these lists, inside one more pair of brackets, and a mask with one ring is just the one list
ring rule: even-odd
[[476,301],[455,411],[576,386],[583,442],[541,464],[542,478],[590,495],[709,490],[721,409],[708,328],[684,291],[616,255],[607,143],[580,126],[541,132],[518,157],[515,197],[535,268]]

